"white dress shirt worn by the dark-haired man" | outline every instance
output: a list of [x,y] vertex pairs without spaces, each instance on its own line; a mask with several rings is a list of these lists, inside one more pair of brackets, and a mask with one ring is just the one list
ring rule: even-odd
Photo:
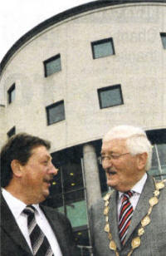
[[[12,214],[17,222],[18,227],[21,229],[23,236],[25,237],[27,244],[32,250],[32,245],[27,229],[27,214],[22,213],[23,209],[25,209],[27,205],[24,204],[21,200],[14,197],[9,192],[7,192],[7,190],[5,189],[2,189],[2,195],[7,202],[9,209],[12,211]],[[60,246],[56,239],[56,235],[53,233],[53,230],[51,229],[51,226],[48,223],[45,214],[40,209],[39,204],[32,205],[37,209],[37,213],[35,214],[37,224],[41,228],[42,232],[46,235],[46,238],[51,245],[53,254],[57,256],[62,256]]]

